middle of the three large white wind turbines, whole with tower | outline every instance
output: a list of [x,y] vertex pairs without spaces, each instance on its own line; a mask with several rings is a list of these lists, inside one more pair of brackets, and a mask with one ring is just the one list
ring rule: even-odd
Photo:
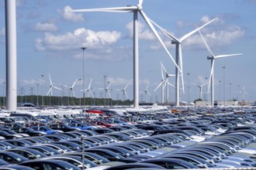
[[[217,18],[216,18],[217,19]],[[207,22],[206,24],[204,24],[203,26],[200,26],[197,29],[194,29],[192,32],[189,32],[187,34],[185,34],[184,36],[182,36],[181,38],[176,38],[175,36],[171,35],[171,33],[169,33],[168,31],[166,31],[165,29],[163,29],[161,26],[157,25],[157,23],[153,22],[152,20],[150,20],[155,26],[158,27],[158,29],[160,29],[162,32],[164,32],[164,34],[168,37],[170,37],[171,39],[171,44],[175,44],[176,45],[176,58],[175,58],[175,63],[178,64],[178,66],[180,67],[176,67],[175,69],[175,76],[176,76],[176,91],[175,91],[175,98],[176,98],[176,106],[179,106],[179,102],[180,102],[180,94],[179,94],[179,72],[181,73],[182,76],[182,90],[183,93],[185,92],[185,88],[184,88],[184,79],[183,79],[183,61],[182,61],[182,42],[189,38],[189,36],[192,36],[192,34],[194,34],[195,32],[198,32],[199,29],[202,29],[203,27],[209,25],[209,23],[215,21],[216,19],[213,19],[209,22]],[[180,68],[180,70],[178,70],[178,68]]]

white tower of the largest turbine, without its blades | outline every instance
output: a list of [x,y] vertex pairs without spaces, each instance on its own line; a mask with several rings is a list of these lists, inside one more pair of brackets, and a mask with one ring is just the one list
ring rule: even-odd
[[137,11],[133,12],[133,107],[139,107],[139,37]]

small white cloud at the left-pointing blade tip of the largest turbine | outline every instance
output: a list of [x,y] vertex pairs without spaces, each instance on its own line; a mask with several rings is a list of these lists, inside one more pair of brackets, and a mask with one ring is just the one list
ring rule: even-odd
[[72,8],[70,6],[65,6],[64,9],[58,9],[57,12],[59,12],[63,19],[66,19],[67,21],[71,22],[81,22],[85,19],[83,18],[82,13],[78,12],[71,12]]

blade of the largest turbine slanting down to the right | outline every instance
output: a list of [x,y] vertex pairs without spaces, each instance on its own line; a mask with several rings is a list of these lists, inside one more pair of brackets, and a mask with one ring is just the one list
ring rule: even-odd
[[157,37],[158,41],[161,43],[161,45],[164,47],[166,53],[168,53],[168,56],[171,58],[172,62],[175,63],[175,66],[177,66],[178,70],[180,72],[182,72],[182,70],[179,68],[179,66],[177,65],[177,63],[175,62],[175,59],[172,58],[171,53],[169,53],[168,49],[166,48],[166,46],[164,45],[164,42],[162,41],[161,37],[158,35],[157,30],[154,29],[154,26],[152,25],[152,23],[150,22],[150,19],[147,18],[147,15],[140,10],[140,15],[142,15],[142,17],[144,18],[145,22],[147,22],[147,25],[150,27],[150,29],[152,30],[152,32],[154,32],[154,35]]

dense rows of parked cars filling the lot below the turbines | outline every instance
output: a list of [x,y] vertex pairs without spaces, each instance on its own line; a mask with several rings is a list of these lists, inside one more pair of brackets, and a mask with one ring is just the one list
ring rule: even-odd
[[251,168],[256,167],[255,121],[253,113],[219,110],[6,123],[0,128],[6,133],[0,134],[0,165],[24,170]]

